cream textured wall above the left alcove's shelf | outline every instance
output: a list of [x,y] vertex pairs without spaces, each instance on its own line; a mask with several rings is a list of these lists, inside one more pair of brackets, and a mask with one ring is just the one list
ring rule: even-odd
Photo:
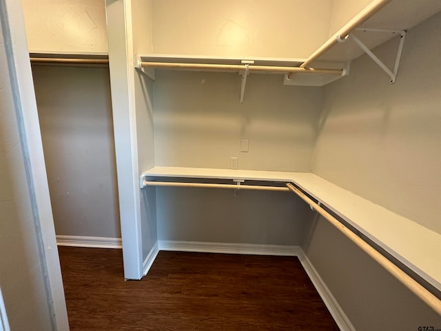
[[104,0],[22,2],[32,52],[107,52]]

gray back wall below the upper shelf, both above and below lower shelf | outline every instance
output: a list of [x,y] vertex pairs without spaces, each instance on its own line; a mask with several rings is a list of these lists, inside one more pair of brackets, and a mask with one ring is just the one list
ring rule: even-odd
[[[320,88],[283,86],[252,74],[243,104],[240,76],[156,70],[156,165],[309,171]],[[249,139],[249,152],[240,152]],[[299,245],[311,216],[291,194],[156,188],[158,239]]]

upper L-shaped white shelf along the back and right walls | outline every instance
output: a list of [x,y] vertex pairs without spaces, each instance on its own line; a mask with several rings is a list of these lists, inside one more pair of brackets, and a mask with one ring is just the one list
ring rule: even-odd
[[[441,1],[439,0],[393,0],[387,3],[384,8],[381,8],[378,12],[375,12],[367,21],[362,23],[360,28],[370,28],[370,29],[388,29],[388,30],[409,30],[413,26],[418,25],[422,21],[431,17],[431,15],[439,12],[441,10]],[[351,21],[347,24],[351,26]],[[345,30],[347,26],[343,27]],[[368,49],[373,49],[376,46],[400,35],[398,32],[365,32],[363,30],[352,30],[350,34],[358,37],[365,44]],[[341,30],[340,30],[341,31]],[[331,37],[335,41],[334,37]],[[331,40],[329,39],[329,40]],[[403,39],[404,40],[404,39]],[[329,43],[326,41],[325,44]],[[325,45],[324,44],[324,45]],[[402,46],[401,46],[402,47]],[[400,51],[399,51],[400,53]],[[349,61],[359,57],[364,54],[364,51],[356,44],[353,39],[349,38],[343,43],[336,43],[331,48],[327,49],[324,54],[321,54],[318,58],[311,62],[307,61],[308,65],[305,63],[303,66],[308,68],[329,68],[329,69],[343,69],[347,66]],[[399,61],[399,57],[397,57]],[[189,55],[178,55],[178,54],[146,54],[141,56],[141,61],[145,62],[168,62],[168,63],[218,63],[223,65],[238,65],[243,60],[254,61],[255,66],[286,66],[286,67],[298,67],[305,62],[305,59],[286,59],[286,58],[225,58],[225,57],[200,57],[200,56],[189,56]],[[177,66],[176,66],[177,67]],[[398,68],[398,66],[397,66]],[[176,68],[175,68],[176,69]],[[185,70],[179,68],[180,70]],[[192,69],[194,71],[218,71],[216,69]],[[268,70],[266,73],[271,73]],[[336,79],[340,79],[345,75],[338,74],[310,74],[310,73],[296,73],[287,79],[285,76],[285,85],[298,85],[298,86],[325,86]],[[154,73],[150,75],[154,77]],[[395,80],[395,74],[391,77],[391,81]],[[243,88],[244,90],[244,88]],[[243,93],[242,93],[243,94]],[[242,97],[241,97],[242,99]]]

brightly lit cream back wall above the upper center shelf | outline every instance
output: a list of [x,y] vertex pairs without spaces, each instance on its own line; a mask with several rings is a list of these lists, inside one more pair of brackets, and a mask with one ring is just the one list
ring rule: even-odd
[[153,0],[153,52],[308,57],[329,33],[328,0]]

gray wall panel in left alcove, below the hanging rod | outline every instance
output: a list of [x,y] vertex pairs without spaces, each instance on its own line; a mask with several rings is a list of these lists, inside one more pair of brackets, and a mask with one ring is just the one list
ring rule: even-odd
[[120,238],[109,70],[32,73],[57,234]]

